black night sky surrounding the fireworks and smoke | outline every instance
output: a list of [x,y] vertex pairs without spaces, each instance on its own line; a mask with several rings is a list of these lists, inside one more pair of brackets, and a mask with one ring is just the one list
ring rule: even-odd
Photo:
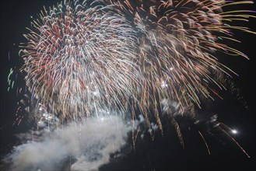
[[[25,41],[23,33],[26,26],[30,26],[30,16],[36,16],[43,5],[54,5],[52,1],[1,1],[1,152],[9,149],[13,143],[13,134],[23,131],[25,128],[12,126],[15,120],[16,95],[7,92],[7,76],[9,69],[18,61],[17,45]],[[254,5],[255,6],[255,5]],[[252,9],[252,8],[251,8]],[[254,10],[255,7],[254,7]],[[245,26],[255,28],[256,19],[251,19]],[[218,120],[229,127],[239,131],[234,136],[237,142],[251,155],[246,155],[225,134],[215,132],[206,134],[205,139],[209,143],[211,155],[205,148],[202,138],[196,128],[184,131],[185,148],[181,148],[174,131],[167,134],[156,135],[155,141],[141,141],[136,145],[135,151],[125,152],[123,159],[114,161],[103,169],[151,169],[151,170],[254,170],[255,167],[255,35],[248,33],[236,33],[241,44],[233,44],[251,58],[226,57],[224,62],[240,76],[233,81],[240,88],[241,94],[247,101],[246,109],[233,95],[227,95],[225,100],[217,100],[212,104],[214,112],[218,113]],[[9,61],[9,56],[11,61]],[[228,60],[228,62],[227,62]],[[15,62],[14,62],[15,61]],[[18,62],[19,63],[19,62]],[[2,154],[1,154],[2,155]]]

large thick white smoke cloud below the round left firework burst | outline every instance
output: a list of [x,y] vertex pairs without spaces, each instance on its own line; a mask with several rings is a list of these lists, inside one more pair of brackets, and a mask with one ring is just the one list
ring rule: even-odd
[[12,170],[38,171],[61,170],[72,159],[71,170],[97,170],[125,145],[131,130],[121,117],[86,119],[17,146],[5,161],[12,163]]

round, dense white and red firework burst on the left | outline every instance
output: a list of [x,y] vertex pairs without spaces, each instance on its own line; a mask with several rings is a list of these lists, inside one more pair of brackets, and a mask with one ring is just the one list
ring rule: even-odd
[[23,70],[32,103],[68,120],[123,110],[138,70],[135,30],[107,7],[74,3],[42,12],[25,35]]

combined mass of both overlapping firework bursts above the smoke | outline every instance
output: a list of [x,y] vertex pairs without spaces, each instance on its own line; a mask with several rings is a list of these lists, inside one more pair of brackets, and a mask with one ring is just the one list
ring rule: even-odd
[[20,52],[31,105],[36,111],[44,106],[62,121],[97,117],[100,110],[131,113],[135,120],[139,112],[149,127],[156,120],[160,130],[164,109],[182,141],[169,104],[193,118],[202,99],[226,89],[220,79],[236,73],[216,52],[247,58],[221,41],[238,41],[232,30],[253,33],[229,23],[255,16],[223,8],[252,3],[74,0],[44,9]]

